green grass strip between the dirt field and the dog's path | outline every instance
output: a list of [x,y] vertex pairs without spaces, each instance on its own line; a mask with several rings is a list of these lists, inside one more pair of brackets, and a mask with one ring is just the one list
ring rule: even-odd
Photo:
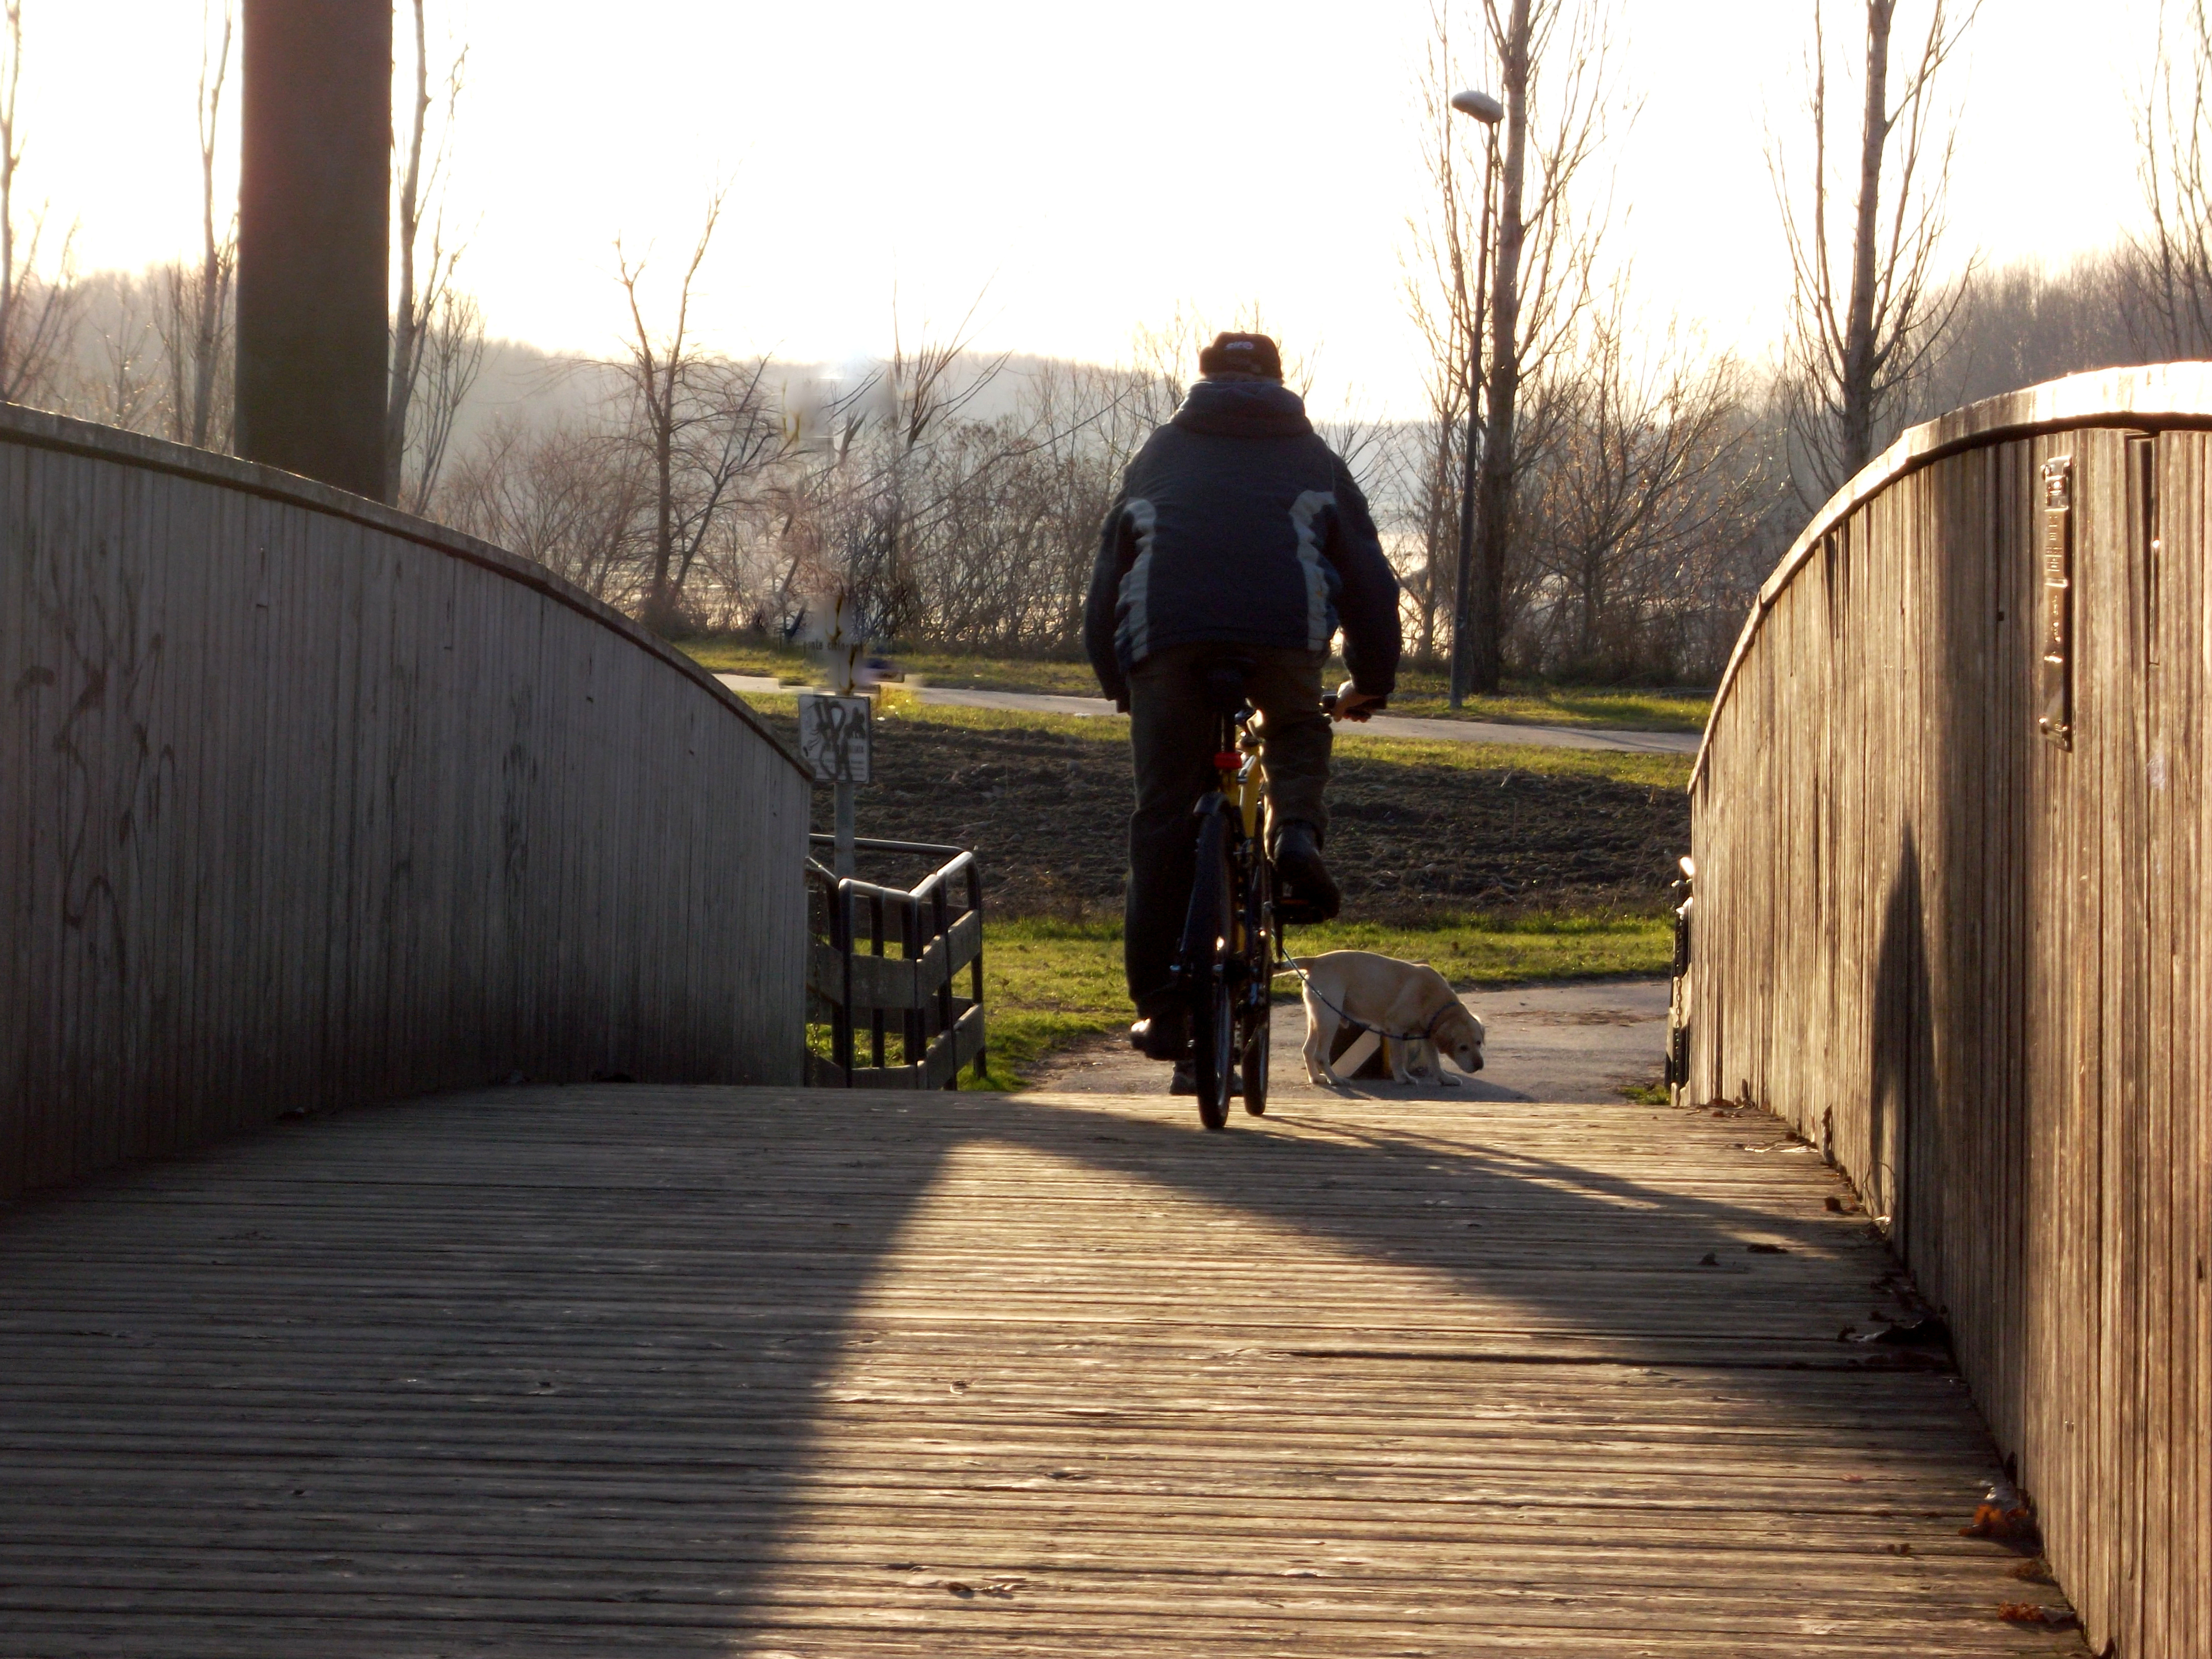
[[[1298,956],[1380,951],[1429,962],[1460,989],[1657,975],[1672,958],[1663,916],[1442,916],[1427,927],[1332,922],[1292,936]],[[1285,982],[1287,987],[1287,982]],[[1290,1000],[1292,989],[1276,989]],[[962,1088],[1015,1091],[1055,1051],[1119,1031],[1135,1011],[1121,980],[1119,922],[991,920],[984,929],[989,1073],[962,1073]]]

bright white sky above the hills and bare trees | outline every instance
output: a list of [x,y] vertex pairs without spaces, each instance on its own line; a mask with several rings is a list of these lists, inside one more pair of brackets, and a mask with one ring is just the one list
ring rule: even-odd
[[[1652,312],[1759,349],[1787,281],[1763,137],[1796,117],[1812,2],[1619,4],[1644,111],[1617,150],[1615,252]],[[2108,241],[2137,208],[2157,0],[1982,11],[1953,82],[1953,252]],[[77,223],[80,270],[195,248],[199,7],[24,13],[22,188]],[[1318,403],[1409,411],[1427,27],[1429,0],[431,0],[434,35],[469,46],[462,281],[495,334],[608,349],[615,234],[672,263],[728,177],[701,305],[726,347],[883,349],[894,288],[909,327],[989,288],[987,345],[1084,358],[1177,305],[1259,301],[1292,349],[1321,343]]]

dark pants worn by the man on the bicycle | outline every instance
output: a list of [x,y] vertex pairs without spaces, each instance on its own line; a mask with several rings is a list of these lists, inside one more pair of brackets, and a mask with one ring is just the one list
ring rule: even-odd
[[1221,717],[1206,697],[1206,670],[1221,657],[1252,664],[1245,692],[1261,712],[1261,765],[1267,774],[1267,834],[1303,818],[1316,838],[1329,814],[1329,717],[1321,712],[1327,653],[1265,646],[1168,646],[1128,677],[1128,743],[1137,768],[1137,810],[1128,818],[1128,909],[1121,951],[1128,995],[1150,1015],[1170,987],[1175,947],[1190,909],[1199,823],[1190,810],[1219,787],[1214,741]]

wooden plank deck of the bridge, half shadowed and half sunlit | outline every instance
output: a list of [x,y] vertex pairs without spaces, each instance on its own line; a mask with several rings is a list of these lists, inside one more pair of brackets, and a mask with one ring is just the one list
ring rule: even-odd
[[1834,1192],[1652,1106],[288,1126],[0,1217],[0,1655],[2079,1652]]

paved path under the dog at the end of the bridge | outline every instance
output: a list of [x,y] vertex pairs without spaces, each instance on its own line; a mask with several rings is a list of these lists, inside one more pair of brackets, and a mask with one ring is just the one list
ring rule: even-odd
[[[1279,989],[1290,989],[1283,980]],[[1666,980],[1577,980],[1467,991],[1460,998],[1484,1024],[1482,1071],[1455,1066],[1442,1084],[1389,1084],[1360,1077],[1354,1095],[1374,1099],[1551,1099],[1617,1106],[1628,1084],[1659,1082],[1666,1062]],[[1340,1099],[1305,1082],[1305,1009],[1279,1002],[1267,1091],[1283,1102]],[[1040,1088],[1084,1095],[1157,1095],[1168,1068],[1135,1053],[1119,1035],[1060,1053]]]

